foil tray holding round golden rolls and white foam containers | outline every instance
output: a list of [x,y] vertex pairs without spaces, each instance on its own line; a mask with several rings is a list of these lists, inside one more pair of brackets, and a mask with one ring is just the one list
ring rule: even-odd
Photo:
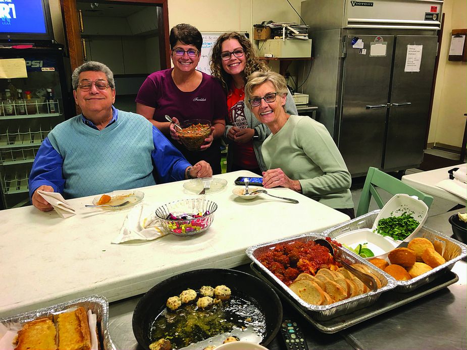
[[[343,233],[353,231],[360,228],[371,228],[375,222],[376,217],[380,210],[374,210],[368,214],[359,216],[353,220],[345,222],[335,227],[331,227],[323,232],[324,236],[330,237],[331,239],[336,239],[336,237],[342,235]],[[445,236],[440,232],[437,232],[427,226],[423,226],[417,234],[413,237],[423,237],[431,242],[439,241],[443,246],[443,257],[446,262],[440,266],[435,267],[433,270],[428,271],[420,276],[409,279],[408,281],[398,281],[394,279],[396,283],[396,290],[402,293],[408,293],[414,289],[419,288],[420,286],[427,284],[434,279],[438,278],[440,274],[443,274],[446,270],[451,270],[455,262],[467,256],[467,246],[453,238]],[[337,240],[339,241],[339,240]],[[388,260],[389,262],[389,260]],[[378,271],[378,269],[374,266]]]

